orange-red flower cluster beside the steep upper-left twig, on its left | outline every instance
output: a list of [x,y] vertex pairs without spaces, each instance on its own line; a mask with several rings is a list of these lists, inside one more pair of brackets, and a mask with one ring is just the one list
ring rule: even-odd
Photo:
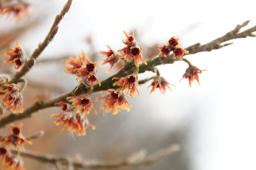
[[15,46],[15,48],[9,48],[9,50],[11,52],[5,52],[4,53],[4,56],[7,56],[7,57],[10,57],[10,59],[8,60],[4,60],[4,63],[7,63],[7,62],[10,62],[12,61],[11,63],[11,66],[13,63],[15,63],[15,68],[18,69],[22,69],[23,67],[23,63],[25,61],[25,57],[24,57],[24,54],[23,54],[23,51],[21,49],[21,47],[19,46],[19,43],[18,42],[14,42],[14,43],[17,43],[17,45]]

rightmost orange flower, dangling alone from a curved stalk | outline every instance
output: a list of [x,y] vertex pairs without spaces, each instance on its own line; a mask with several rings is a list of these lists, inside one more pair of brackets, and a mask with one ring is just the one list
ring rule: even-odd
[[196,66],[189,66],[186,69],[186,72],[182,78],[188,78],[190,87],[191,87],[191,82],[193,82],[194,79],[196,79],[196,81],[198,82],[198,84],[200,86],[198,73],[201,73],[202,71],[206,71],[206,70],[200,70]]

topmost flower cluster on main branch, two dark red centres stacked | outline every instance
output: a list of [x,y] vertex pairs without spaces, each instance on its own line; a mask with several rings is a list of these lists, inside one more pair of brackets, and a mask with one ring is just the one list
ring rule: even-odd
[[123,31],[125,36],[126,36],[126,40],[123,43],[126,44],[127,46],[125,46],[122,49],[119,49],[119,52],[124,52],[119,58],[123,58],[126,56],[126,58],[124,60],[127,60],[128,62],[130,61],[130,59],[134,58],[134,62],[135,65],[138,67],[139,64],[139,60],[141,60],[144,64],[147,65],[147,62],[143,60],[142,58],[142,45],[139,42],[136,42],[136,40],[134,39],[134,31],[132,33],[131,36],[128,36],[127,33],[125,31]]

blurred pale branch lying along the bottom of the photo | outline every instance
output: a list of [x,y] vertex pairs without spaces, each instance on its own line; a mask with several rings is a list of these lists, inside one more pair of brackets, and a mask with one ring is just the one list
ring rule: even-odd
[[[179,144],[172,144],[164,149],[158,150],[157,152],[146,156],[144,152],[137,152],[132,154],[129,158],[121,161],[100,161],[100,160],[84,160],[84,161],[71,161],[68,157],[52,157],[49,155],[39,155],[30,152],[20,152],[21,156],[25,156],[31,159],[36,159],[41,162],[62,164],[64,166],[71,166],[74,168],[81,169],[115,169],[115,168],[126,168],[126,167],[141,167],[155,164],[167,156],[180,150]],[[13,150],[13,152],[16,152]]]

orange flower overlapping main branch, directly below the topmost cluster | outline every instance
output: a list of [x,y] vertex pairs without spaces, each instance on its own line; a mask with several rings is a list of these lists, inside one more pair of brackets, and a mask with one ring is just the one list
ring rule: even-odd
[[123,86],[120,90],[120,93],[122,93],[123,91],[127,91],[126,95],[129,93],[130,91],[130,96],[132,96],[132,98],[134,98],[135,96],[135,92],[137,91],[138,92],[138,95],[140,97],[140,93],[137,89],[138,87],[138,82],[137,82],[137,78],[136,78],[136,75],[135,74],[131,74],[131,75],[128,75],[126,77],[121,77],[121,78],[117,78],[117,77],[113,77],[112,80],[114,79],[117,79],[119,81],[113,83],[113,86]]

